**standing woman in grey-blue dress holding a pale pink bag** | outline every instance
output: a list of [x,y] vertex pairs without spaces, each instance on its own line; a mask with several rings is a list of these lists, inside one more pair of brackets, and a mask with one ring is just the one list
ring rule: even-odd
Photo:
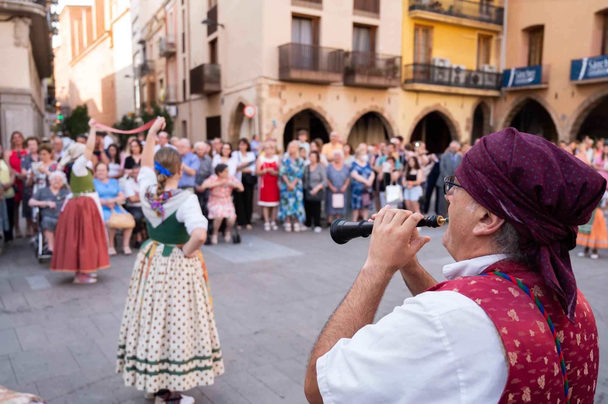
[[344,164],[344,152],[334,150],[334,160],[327,166],[327,200],[325,213],[329,224],[334,219],[346,216],[346,191],[350,185],[350,171]]

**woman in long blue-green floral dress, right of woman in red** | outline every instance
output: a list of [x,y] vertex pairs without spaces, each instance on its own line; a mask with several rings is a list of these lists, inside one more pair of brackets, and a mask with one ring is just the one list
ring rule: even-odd
[[278,218],[285,221],[285,231],[291,232],[293,220],[294,232],[299,232],[300,223],[306,219],[304,211],[304,192],[302,177],[304,176],[304,160],[298,155],[299,143],[297,140],[289,142],[287,157],[283,158],[278,175],[281,181],[281,202]]

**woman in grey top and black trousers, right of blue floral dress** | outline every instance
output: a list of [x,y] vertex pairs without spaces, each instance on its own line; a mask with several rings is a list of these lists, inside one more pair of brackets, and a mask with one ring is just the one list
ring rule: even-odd
[[306,221],[304,229],[311,227],[314,221],[314,232],[321,229],[321,201],[325,197],[327,174],[325,168],[319,163],[319,152],[310,152],[310,164],[304,169],[304,210]]

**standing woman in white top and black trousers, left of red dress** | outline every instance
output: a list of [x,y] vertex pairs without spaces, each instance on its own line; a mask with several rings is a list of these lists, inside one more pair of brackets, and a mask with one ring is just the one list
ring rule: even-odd
[[237,209],[237,228],[245,227],[251,230],[251,214],[254,204],[254,187],[258,183],[255,177],[255,154],[251,151],[249,141],[238,141],[238,150],[232,152],[232,158],[237,161],[237,174],[235,178],[243,184],[243,192],[235,192],[234,207]]

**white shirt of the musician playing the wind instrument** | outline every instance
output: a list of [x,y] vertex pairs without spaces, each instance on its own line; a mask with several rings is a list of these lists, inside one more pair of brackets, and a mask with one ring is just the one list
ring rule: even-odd
[[[460,261],[444,267],[444,275],[477,275],[502,258]],[[507,376],[494,323],[452,291],[407,298],[317,360],[325,404],[497,403]]]

